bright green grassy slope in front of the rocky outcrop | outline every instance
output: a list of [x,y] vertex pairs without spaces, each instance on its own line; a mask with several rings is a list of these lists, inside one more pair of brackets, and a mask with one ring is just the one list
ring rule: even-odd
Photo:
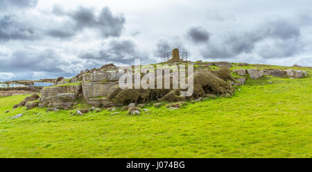
[[239,88],[232,98],[144,107],[137,117],[26,107],[5,114],[25,96],[0,98],[0,157],[312,157],[311,77]]

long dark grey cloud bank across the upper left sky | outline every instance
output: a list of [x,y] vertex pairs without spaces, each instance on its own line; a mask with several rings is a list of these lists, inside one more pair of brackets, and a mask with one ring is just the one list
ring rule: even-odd
[[125,24],[125,17],[113,15],[108,7],[96,15],[96,11],[92,8],[79,7],[66,12],[60,6],[54,6],[53,14],[63,17],[62,21],[51,20],[50,23],[43,25],[40,21],[36,23],[37,21],[21,16],[1,17],[0,41],[41,40],[46,36],[67,39],[79,34],[85,28],[95,29],[104,38],[119,37]]

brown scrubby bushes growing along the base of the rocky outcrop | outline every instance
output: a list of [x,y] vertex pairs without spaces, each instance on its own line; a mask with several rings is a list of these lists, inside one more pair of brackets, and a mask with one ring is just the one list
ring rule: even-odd
[[[230,79],[229,69],[220,68],[213,74],[211,71],[197,71],[194,77],[194,90],[191,97],[180,95],[182,89],[116,89],[107,98],[110,98],[116,105],[127,105],[129,103],[144,103],[147,101],[186,101],[190,98],[199,98],[205,94],[229,94],[234,93],[232,85],[224,79]],[[234,79],[234,78],[233,78]],[[164,79],[163,79],[164,80]],[[164,83],[163,83],[164,84]],[[155,88],[157,85],[155,85]],[[172,80],[171,80],[172,87]],[[184,91],[184,90],[183,90]]]

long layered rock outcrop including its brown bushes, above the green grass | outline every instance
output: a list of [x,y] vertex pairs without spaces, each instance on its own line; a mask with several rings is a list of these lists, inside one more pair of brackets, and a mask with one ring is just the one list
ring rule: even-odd
[[[194,64],[194,62],[191,62]],[[211,65],[221,68],[232,66],[230,62],[196,62],[203,67],[209,68]],[[249,66],[248,63],[239,63],[239,66]],[[262,67],[262,66],[261,66]],[[230,72],[230,71],[229,71]],[[231,97],[235,89],[232,85],[244,85],[246,78],[258,79],[265,75],[276,77],[302,78],[307,76],[306,71],[300,70],[279,70],[279,69],[236,69],[233,70],[239,77],[233,78],[229,75],[218,75],[218,72],[198,70],[194,74],[194,94],[189,100],[198,100],[200,98],[209,98],[205,95],[221,95]],[[62,77],[55,80],[55,86],[45,87],[41,90],[39,102],[36,101],[39,96],[28,98],[15,107],[26,105],[28,109],[33,107],[53,107],[57,109],[69,109],[80,101],[85,101],[93,106],[93,110],[100,111],[99,107],[123,106],[122,110],[128,110],[129,114],[140,114],[140,108],[144,107],[147,101],[185,101],[186,98],[180,95],[179,89],[120,89],[119,78],[123,72],[113,64],[104,65],[98,69],[81,71],[80,74],[71,78]],[[231,76],[231,77],[229,77]],[[213,83],[213,84],[211,84]],[[35,95],[35,94],[34,94]],[[161,107],[161,103],[155,103],[155,107]],[[171,108],[172,107],[172,108]],[[170,108],[175,110],[180,107]],[[112,110],[113,111],[113,110]],[[146,111],[146,110],[144,110]],[[76,114],[85,114],[83,110],[78,110]],[[113,113],[114,114],[114,113]]]

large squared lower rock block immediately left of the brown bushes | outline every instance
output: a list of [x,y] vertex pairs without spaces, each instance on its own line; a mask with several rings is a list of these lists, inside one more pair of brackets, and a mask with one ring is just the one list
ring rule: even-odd
[[118,81],[83,83],[85,99],[107,96],[118,88]]

